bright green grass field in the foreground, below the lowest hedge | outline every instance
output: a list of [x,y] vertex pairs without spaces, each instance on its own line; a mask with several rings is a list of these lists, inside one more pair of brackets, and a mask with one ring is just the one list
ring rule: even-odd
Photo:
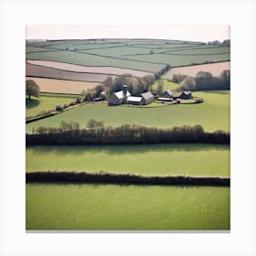
[[229,187],[26,186],[26,229],[230,229]]

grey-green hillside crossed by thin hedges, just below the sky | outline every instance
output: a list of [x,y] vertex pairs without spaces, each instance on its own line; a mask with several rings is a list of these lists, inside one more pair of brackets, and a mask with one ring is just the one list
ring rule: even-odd
[[[38,48],[37,52],[30,50],[33,46]],[[39,52],[39,48],[44,52]],[[49,49],[52,51],[48,52]],[[229,50],[229,47],[174,40],[97,39],[96,43],[94,40],[69,40],[29,43],[26,59],[156,72],[166,64],[177,67],[192,62],[229,60]]]

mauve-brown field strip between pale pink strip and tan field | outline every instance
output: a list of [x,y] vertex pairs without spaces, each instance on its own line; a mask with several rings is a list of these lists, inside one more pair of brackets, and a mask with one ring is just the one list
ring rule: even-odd
[[[39,77],[59,80],[80,80],[80,81],[97,81],[101,82],[106,80],[109,76],[107,74],[96,73],[80,73],[61,69],[52,69],[43,66],[26,64],[27,77]],[[112,76],[114,78],[115,76]]]

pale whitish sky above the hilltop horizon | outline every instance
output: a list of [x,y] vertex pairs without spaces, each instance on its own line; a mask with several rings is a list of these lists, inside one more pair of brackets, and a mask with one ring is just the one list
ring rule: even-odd
[[159,38],[187,41],[229,39],[229,26],[27,26],[27,39]]

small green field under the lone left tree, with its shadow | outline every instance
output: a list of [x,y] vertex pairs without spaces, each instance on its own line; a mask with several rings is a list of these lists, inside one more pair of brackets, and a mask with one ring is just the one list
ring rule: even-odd
[[55,110],[56,106],[75,101],[72,97],[40,96],[39,98],[26,99],[26,117],[31,117],[40,112]]

